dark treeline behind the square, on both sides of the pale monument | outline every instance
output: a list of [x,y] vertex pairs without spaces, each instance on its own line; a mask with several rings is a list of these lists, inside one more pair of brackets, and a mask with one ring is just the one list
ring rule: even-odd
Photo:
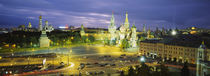
[[[41,32],[30,31],[13,31],[0,34],[0,46],[9,45],[11,47],[15,44],[18,48],[39,47],[40,36]],[[47,36],[50,39],[51,46],[95,41],[93,36],[81,37],[79,31],[54,30],[47,32]]]

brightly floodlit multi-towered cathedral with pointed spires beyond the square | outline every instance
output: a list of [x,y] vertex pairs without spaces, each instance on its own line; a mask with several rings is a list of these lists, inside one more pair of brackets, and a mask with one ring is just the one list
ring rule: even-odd
[[136,36],[136,26],[130,28],[128,13],[126,12],[126,18],[124,24],[121,24],[119,29],[116,30],[114,23],[114,15],[112,13],[111,24],[108,27],[110,34],[110,44],[117,44],[117,46],[123,45],[123,40],[126,40],[129,44],[129,47],[137,47],[137,36]]

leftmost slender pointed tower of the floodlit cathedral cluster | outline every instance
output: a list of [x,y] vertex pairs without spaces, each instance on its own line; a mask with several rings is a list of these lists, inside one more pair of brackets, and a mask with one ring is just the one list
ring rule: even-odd
[[115,22],[114,22],[114,14],[112,13],[112,18],[110,21],[110,25],[108,27],[108,31],[110,33],[110,43],[111,44],[115,44],[115,40],[116,40],[116,26],[115,26]]

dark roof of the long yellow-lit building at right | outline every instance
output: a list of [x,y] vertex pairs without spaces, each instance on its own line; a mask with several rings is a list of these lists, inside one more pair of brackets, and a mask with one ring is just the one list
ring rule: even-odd
[[179,36],[170,36],[165,37],[161,40],[144,40],[141,42],[147,43],[164,43],[166,45],[177,45],[177,46],[185,46],[185,47],[194,47],[198,48],[202,41],[207,48],[210,48],[210,36],[209,34],[199,34],[199,35],[179,35]]

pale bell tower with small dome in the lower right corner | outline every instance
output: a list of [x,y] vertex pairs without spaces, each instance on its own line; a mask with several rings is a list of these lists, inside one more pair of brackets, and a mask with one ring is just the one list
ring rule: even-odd
[[206,61],[206,46],[204,45],[204,41],[199,46],[197,51],[197,59],[196,59],[196,76],[205,76],[205,63]]

